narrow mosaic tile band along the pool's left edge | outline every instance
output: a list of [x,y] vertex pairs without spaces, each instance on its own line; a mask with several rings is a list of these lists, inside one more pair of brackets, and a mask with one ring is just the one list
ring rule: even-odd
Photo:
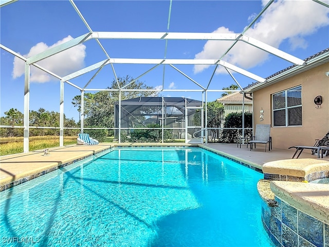
[[99,154],[99,153],[108,151],[109,149],[111,149],[111,148],[106,148],[104,150],[100,150],[100,151],[94,152],[94,154],[89,154],[89,155],[86,155],[86,156],[77,158],[76,160],[73,160],[73,161],[70,161],[70,162],[61,164],[61,165],[59,165],[57,167],[51,167],[51,168],[49,168],[47,170],[44,170],[44,171],[41,171],[41,172],[37,172],[37,173],[31,174],[31,175],[29,175],[29,176],[27,176],[25,178],[20,179],[20,180],[16,180],[16,181],[10,182],[8,184],[4,184],[4,185],[0,186],[0,192],[6,191],[7,189],[10,189],[10,188],[12,188],[14,186],[17,186],[17,185],[26,183],[26,182],[28,182],[28,181],[30,181],[32,179],[39,178],[39,177],[41,177],[41,176],[43,176],[43,175],[45,175],[45,174],[47,174],[49,172],[55,171],[57,169],[61,169],[61,168],[65,167],[65,166],[71,165],[71,164],[76,163],[78,161],[82,161],[85,158],[88,158],[88,157],[93,156],[95,154]]

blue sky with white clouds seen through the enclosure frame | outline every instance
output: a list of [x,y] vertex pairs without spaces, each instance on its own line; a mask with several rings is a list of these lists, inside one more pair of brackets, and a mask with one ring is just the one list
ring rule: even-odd
[[[323,1],[329,4],[329,1]],[[241,33],[260,13],[266,1],[74,1],[94,31],[109,32],[218,32]],[[171,3],[170,22],[169,9]],[[17,1],[0,8],[0,43],[24,57],[38,54],[50,47],[77,38],[88,29],[69,1]],[[279,48],[297,58],[305,59],[329,47],[329,8],[311,0],[275,1],[246,32],[247,36]],[[168,29],[169,27],[169,29]],[[231,44],[228,41],[169,40],[100,40],[111,58],[218,59]],[[24,63],[0,49],[0,113],[10,108],[24,110]],[[106,56],[96,40],[38,62],[59,76],[65,76],[100,62]],[[291,63],[246,43],[238,43],[224,61],[249,72],[268,77]],[[154,65],[114,64],[118,77],[137,78]],[[205,65],[174,65],[200,85],[207,86],[215,67]],[[157,89],[199,89],[173,67],[158,66],[139,80]],[[165,79],[163,80],[163,70]],[[84,86],[97,70],[70,80]],[[233,73],[242,87],[254,80]],[[112,84],[114,73],[106,65],[88,85],[89,89],[105,89]],[[218,68],[209,89],[221,90],[234,84],[223,67]],[[31,69],[30,110],[44,108],[59,112],[59,79]],[[79,119],[71,104],[80,91],[65,84],[64,113]],[[222,93],[208,94],[208,101]],[[202,99],[195,92],[162,92],[166,97]]]

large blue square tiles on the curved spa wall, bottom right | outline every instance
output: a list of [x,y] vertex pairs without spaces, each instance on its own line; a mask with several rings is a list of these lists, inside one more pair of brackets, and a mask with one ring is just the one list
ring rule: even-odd
[[278,207],[262,202],[262,222],[278,247],[327,247],[329,225],[281,201]]

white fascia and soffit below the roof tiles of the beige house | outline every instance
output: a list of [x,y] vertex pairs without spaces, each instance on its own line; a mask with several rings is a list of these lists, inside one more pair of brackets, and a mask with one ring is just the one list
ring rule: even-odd
[[271,84],[275,84],[275,83],[283,81],[283,80],[285,80],[289,77],[296,76],[300,73],[303,73],[303,72],[305,72],[309,69],[320,66],[320,65],[325,64],[327,62],[329,62],[329,51],[324,52],[323,54],[321,54],[320,56],[315,57],[314,59],[308,60],[305,65],[297,65],[295,67],[287,69],[283,73],[280,73],[276,76],[273,76],[273,77],[267,79],[266,82],[260,82],[260,83],[257,83],[255,85],[253,85],[253,86],[250,86],[250,87],[244,89],[244,92],[245,93],[252,93],[252,92],[258,91],[258,90],[263,89],[264,87],[267,87]]

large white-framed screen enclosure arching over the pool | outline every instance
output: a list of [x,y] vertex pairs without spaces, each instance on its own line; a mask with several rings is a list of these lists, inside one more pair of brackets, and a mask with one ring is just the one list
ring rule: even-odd
[[[60,146],[68,130],[103,131],[119,143],[207,142],[214,130],[216,138],[223,134],[222,124],[209,125],[209,105],[223,93],[240,92],[244,111],[247,87],[305,65],[301,58],[327,45],[309,40],[298,53],[287,43],[314,29],[283,35],[282,16],[293,20],[300,8],[317,16],[328,8],[321,1],[2,0],[0,6],[7,111],[0,127],[24,135],[24,152],[39,129],[54,130]],[[273,16],[279,18],[268,21]],[[131,80],[120,80],[126,75]],[[244,136],[245,129],[242,114],[236,130]]]

